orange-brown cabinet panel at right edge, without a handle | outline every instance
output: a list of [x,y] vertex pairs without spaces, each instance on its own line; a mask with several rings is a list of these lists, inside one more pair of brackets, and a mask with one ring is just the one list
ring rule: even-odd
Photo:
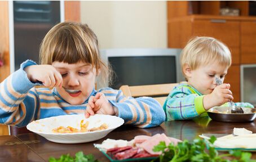
[[256,63],[256,22],[241,22],[241,63]]

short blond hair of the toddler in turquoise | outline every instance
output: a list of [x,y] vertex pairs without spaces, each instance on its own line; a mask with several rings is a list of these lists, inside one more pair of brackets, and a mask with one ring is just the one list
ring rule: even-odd
[[[229,68],[231,66],[231,52],[219,40],[211,37],[195,37],[188,41],[180,55],[182,69],[188,64],[191,70],[210,62],[218,61]],[[184,74],[184,73],[183,73]]]

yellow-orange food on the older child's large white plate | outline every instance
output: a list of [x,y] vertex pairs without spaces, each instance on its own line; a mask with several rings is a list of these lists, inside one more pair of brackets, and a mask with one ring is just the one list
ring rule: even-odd
[[78,132],[100,131],[100,130],[108,128],[108,125],[106,123],[103,123],[99,127],[94,127],[91,129],[87,129],[88,125],[89,125],[88,121],[85,124],[83,124],[83,120],[81,120],[81,122],[80,122],[81,129],[80,130],[77,128],[70,127],[70,126],[68,126],[68,127],[60,126],[60,127],[52,129],[52,132],[54,132],[54,133],[78,133]]

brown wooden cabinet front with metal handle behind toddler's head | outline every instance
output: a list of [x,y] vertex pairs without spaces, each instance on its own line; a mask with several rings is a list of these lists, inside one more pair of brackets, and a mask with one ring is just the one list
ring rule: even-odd
[[239,64],[240,22],[227,20],[195,20],[193,36],[214,37],[225,43],[232,53],[232,64]]

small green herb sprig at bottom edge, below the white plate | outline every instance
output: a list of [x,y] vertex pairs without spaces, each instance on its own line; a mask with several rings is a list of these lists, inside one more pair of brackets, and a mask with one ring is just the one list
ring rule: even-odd
[[76,153],[76,157],[72,157],[69,154],[61,155],[59,159],[51,157],[50,162],[98,162],[95,160],[92,154],[84,155],[82,151]]

